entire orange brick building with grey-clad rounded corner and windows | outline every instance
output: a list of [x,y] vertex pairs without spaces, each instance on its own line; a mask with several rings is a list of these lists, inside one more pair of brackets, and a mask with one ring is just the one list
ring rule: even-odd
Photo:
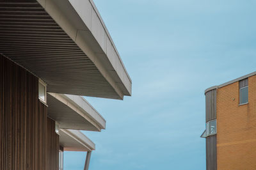
[[205,90],[206,166],[256,169],[256,72]]

